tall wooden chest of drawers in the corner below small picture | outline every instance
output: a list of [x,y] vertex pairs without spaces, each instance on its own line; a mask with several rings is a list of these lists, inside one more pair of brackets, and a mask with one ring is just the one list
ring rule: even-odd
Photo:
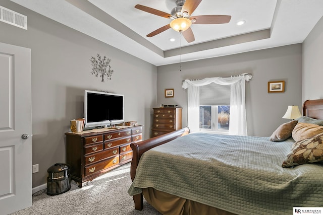
[[153,108],[152,137],[181,128],[182,108]]

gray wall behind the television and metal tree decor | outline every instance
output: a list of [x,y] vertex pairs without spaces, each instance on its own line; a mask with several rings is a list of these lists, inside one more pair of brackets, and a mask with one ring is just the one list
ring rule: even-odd
[[[32,52],[32,164],[39,164],[33,187],[46,183],[51,165],[66,161],[64,133],[71,119],[83,116],[85,89],[124,94],[125,120],[143,124],[149,138],[156,66],[12,2],[0,0],[0,5],[28,17],[28,30],[0,22],[0,42]],[[111,58],[111,81],[90,74],[89,59],[97,53]]]

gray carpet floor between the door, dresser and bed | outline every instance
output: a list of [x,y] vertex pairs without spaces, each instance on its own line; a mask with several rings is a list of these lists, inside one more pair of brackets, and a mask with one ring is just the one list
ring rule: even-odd
[[71,181],[66,193],[50,196],[46,190],[34,193],[32,206],[11,213],[25,214],[149,214],[160,215],[144,200],[143,210],[136,210],[128,189],[131,185],[130,163],[112,170],[82,188]]

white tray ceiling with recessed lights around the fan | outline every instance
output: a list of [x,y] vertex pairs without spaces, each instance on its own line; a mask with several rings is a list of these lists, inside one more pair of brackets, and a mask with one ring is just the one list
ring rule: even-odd
[[[11,1],[157,66],[301,43],[323,16],[322,0],[203,0],[192,16],[230,15],[231,21],[192,25],[195,41],[187,43],[173,29],[146,37],[171,20],[134,8],[170,13],[175,0]],[[236,25],[240,20],[246,23]]]

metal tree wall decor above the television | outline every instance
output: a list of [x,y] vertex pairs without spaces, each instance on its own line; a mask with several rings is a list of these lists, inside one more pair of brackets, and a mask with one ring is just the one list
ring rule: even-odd
[[104,56],[101,58],[100,54],[96,55],[97,59],[95,57],[91,57],[90,61],[92,63],[92,71],[91,74],[95,75],[95,77],[102,77],[101,82],[104,82],[104,76],[107,76],[107,81],[111,80],[111,76],[113,75],[113,69],[111,69],[111,59]]

